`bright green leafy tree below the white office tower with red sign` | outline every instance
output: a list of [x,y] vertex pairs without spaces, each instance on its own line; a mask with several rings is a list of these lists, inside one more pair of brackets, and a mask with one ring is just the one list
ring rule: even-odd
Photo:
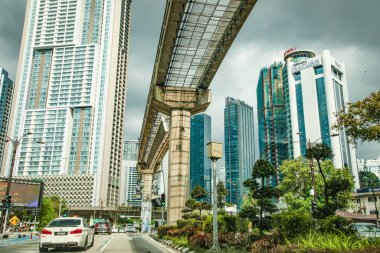
[[[326,205],[325,194],[318,194],[325,189],[325,183],[320,173],[315,174],[316,194],[319,204],[317,206],[317,216],[326,217],[333,214],[337,209],[347,208],[351,203],[351,190],[354,186],[354,178],[348,169],[334,168],[330,160],[321,162],[321,170],[324,172],[327,195],[330,199]],[[283,161],[279,168],[283,176],[282,182],[278,185],[278,190],[282,194],[288,211],[310,212],[312,196],[312,180],[310,168],[303,158],[297,160]]]

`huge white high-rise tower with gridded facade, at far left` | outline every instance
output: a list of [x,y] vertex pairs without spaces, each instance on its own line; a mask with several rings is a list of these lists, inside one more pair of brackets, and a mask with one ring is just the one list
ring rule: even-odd
[[10,132],[33,134],[14,172],[92,176],[91,194],[78,205],[118,202],[130,4],[27,1]]

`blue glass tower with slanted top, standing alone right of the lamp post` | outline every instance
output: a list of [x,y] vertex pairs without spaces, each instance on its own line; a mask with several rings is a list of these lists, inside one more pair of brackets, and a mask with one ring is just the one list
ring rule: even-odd
[[255,162],[253,108],[231,97],[224,108],[224,145],[227,202],[240,206]]

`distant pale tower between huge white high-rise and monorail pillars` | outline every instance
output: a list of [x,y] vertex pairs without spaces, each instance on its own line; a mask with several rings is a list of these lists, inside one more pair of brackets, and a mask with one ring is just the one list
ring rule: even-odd
[[120,204],[141,206],[141,198],[136,197],[138,148],[138,140],[127,140],[124,142],[123,163],[120,175]]

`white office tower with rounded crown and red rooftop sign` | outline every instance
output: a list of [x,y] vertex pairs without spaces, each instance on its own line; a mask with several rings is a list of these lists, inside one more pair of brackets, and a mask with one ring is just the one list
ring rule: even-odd
[[289,156],[305,155],[308,141],[322,141],[333,151],[334,166],[350,168],[359,188],[355,149],[344,128],[331,128],[335,113],[348,102],[345,65],[328,50],[316,56],[293,48],[284,54],[284,60]]

